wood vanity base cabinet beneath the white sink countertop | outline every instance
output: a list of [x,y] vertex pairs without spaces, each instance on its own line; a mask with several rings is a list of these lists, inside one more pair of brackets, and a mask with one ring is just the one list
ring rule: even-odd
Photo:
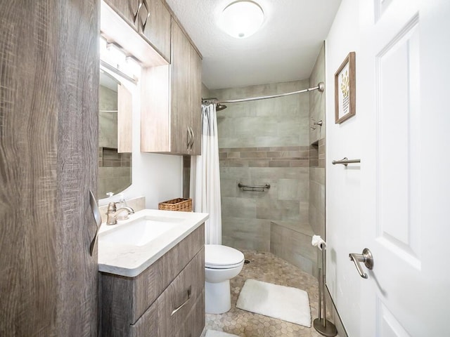
[[205,327],[205,237],[201,225],[136,277],[100,272],[105,337],[199,337]]

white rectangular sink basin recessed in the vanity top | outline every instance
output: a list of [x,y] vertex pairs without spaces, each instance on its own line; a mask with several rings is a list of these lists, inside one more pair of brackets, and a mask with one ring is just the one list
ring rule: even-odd
[[101,242],[114,244],[129,244],[131,246],[143,246],[157,239],[161,234],[172,230],[183,218],[169,218],[162,216],[142,216],[131,220],[129,223],[117,226],[108,232],[101,233]]

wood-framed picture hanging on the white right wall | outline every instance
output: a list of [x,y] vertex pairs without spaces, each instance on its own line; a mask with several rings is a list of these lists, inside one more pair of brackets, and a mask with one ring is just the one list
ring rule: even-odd
[[335,124],[356,114],[356,53],[350,52],[335,72]]

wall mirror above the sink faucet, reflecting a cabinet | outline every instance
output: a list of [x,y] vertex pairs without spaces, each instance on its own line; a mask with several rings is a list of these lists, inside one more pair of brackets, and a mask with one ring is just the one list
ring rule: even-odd
[[131,93],[107,70],[100,71],[98,100],[98,197],[131,185]]

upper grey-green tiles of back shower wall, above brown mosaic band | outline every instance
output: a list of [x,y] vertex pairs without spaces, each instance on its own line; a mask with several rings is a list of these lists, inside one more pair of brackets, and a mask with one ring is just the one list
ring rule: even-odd
[[[250,98],[298,91],[309,80],[210,91],[219,99]],[[217,112],[219,147],[309,144],[309,95],[230,103]]]

